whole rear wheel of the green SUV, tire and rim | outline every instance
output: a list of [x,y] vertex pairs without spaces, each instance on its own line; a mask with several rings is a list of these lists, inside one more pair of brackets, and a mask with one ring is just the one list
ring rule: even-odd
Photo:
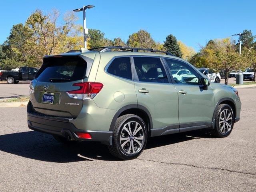
[[114,125],[110,153],[123,160],[137,158],[146,146],[148,131],[146,124],[137,115],[127,114],[119,117]]

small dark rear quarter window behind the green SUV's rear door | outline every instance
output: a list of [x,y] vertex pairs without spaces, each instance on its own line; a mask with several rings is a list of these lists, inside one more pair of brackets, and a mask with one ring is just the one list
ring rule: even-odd
[[130,57],[115,58],[110,64],[110,66],[108,66],[107,72],[118,77],[132,79]]

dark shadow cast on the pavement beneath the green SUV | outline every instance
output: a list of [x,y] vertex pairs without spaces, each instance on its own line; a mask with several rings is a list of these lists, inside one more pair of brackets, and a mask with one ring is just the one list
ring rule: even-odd
[[[148,141],[146,150],[203,136],[204,132],[197,131],[153,137]],[[72,142],[64,145],[55,141],[51,135],[36,131],[0,135],[0,150],[25,158],[57,163],[119,160],[110,154],[106,145],[99,142]]]

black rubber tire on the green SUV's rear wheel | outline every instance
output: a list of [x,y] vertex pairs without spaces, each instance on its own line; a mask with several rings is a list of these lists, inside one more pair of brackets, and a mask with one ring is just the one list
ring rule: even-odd
[[[139,146],[138,142],[135,142],[136,135],[139,133],[138,132],[136,134],[136,131],[135,131],[136,122],[140,125],[137,127],[137,130],[141,127],[142,129],[140,129],[139,132],[140,132],[140,134],[143,134],[142,135],[143,139],[142,139],[142,142],[140,143],[141,144],[140,147],[138,147]],[[132,136],[122,137],[124,135],[124,133],[128,133],[128,132],[124,132],[124,126],[129,123],[130,123],[130,127],[131,127],[130,130],[132,132]],[[133,129],[133,126],[134,126],[134,129]],[[134,134],[134,132],[135,132],[135,134]],[[122,136],[121,136],[121,134],[122,134]],[[129,139],[126,141],[121,141],[121,138],[129,138]],[[143,152],[143,150],[146,146],[147,140],[148,140],[148,130],[147,130],[146,124],[142,120],[142,118],[140,118],[139,116],[134,115],[134,114],[127,114],[127,115],[123,115],[123,116],[119,117],[116,120],[116,123],[114,125],[114,131],[113,131],[112,145],[108,146],[108,149],[109,149],[110,153],[117,158],[120,158],[122,160],[131,160],[131,159],[137,158]],[[125,142],[126,142],[126,144],[122,147],[121,143],[124,144]],[[128,148],[127,151],[124,149],[126,146]],[[131,146],[133,146],[133,148]],[[137,149],[137,151],[136,151],[136,149]],[[131,150],[132,150],[132,152],[134,150],[133,154],[130,154]]]

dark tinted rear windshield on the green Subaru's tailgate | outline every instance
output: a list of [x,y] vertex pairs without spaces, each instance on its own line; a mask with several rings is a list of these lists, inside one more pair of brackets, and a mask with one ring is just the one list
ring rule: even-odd
[[36,80],[41,82],[69,82],[82,80],[86,73],[86,61],[80,57],[48,57]]

